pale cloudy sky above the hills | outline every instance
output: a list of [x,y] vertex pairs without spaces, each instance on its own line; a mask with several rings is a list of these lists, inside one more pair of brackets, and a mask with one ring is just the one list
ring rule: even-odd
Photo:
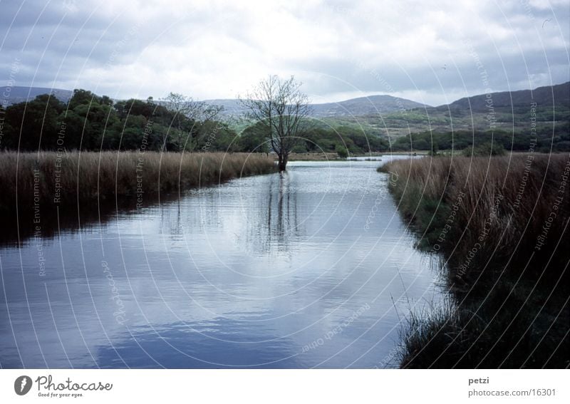
[[277,74],[440,105],[570,80],[567,0],[427,3],[0,0],[0,86],[235,98]]

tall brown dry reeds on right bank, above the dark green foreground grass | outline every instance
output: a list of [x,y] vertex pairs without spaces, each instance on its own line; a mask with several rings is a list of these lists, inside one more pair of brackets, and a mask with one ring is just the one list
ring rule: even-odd
[[[450,269],[464,278],[505,261],[524,262],[533,253],[549,259],[569,241],[567,154],[425,157],[390,162],[382,170],[397,176],[391,190],[400,212],[417,226],[420,244],[447,252]],[[469,252],[475,254],[467,261]]]

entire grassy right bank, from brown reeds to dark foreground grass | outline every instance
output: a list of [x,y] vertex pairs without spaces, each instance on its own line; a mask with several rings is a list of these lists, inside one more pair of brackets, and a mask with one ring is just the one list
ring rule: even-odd
[[425,157],[381,170],[418,247],[445,257],[453,296],[412,314],[401,365],[568,366],[569,155]]

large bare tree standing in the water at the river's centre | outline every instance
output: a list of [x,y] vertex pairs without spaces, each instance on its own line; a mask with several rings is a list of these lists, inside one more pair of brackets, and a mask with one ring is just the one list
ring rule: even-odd
[[249,111],[248,117],[264,125],[271,148],[279,157],[279,171],[286,170],[289,152],[305,130],[311,112],[309,98],[300,88],[301,83],[293,76],[288,80],[269,76],[239,99]]

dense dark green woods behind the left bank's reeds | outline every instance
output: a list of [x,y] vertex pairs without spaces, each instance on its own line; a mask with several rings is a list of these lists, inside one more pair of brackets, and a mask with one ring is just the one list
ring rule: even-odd
[[[184,115],[152,98],[113,102],[74,90],[67,104],[49,95],[6,108],[4,150],[239,151],[237,133],[201,103]],[[193,116],[197,115],[197,116]]]

